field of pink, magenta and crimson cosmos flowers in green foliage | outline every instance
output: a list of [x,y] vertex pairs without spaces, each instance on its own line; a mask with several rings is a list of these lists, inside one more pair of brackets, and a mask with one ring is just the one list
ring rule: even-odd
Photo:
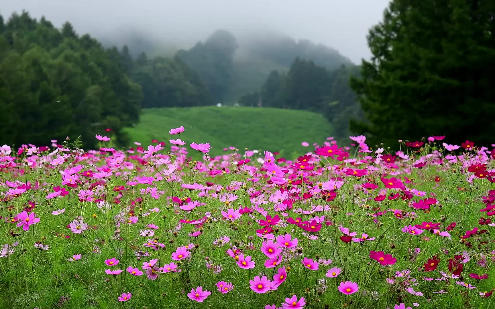
[[0,307],[494,308],[495,145],[163,135],[1,146]]

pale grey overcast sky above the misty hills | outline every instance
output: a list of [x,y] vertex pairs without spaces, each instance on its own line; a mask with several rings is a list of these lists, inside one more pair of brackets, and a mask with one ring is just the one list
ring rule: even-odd
[[[389,0],[0,0],[0,14],[27,10],[79,34],[122,34],[130,28],[189,47],[223,28],[236,35],[272,29],[338,49],[355,63],[369,58],[368,29]],[[187,46],[189,45],[189,46]]]

